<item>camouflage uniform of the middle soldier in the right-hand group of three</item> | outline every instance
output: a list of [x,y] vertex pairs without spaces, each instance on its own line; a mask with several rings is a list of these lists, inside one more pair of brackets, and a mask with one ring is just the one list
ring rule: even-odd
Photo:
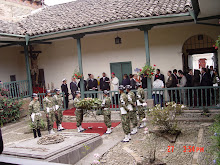
[[137,124],[138,124],[135,103],[136,103],[135,94],[134,92],[130,91],[128,93],[128,109],[129,109],[129,106],[132,107],[130,108],[129,116],[130,116],[130,120],[133,125],[133,128],[137,127]]

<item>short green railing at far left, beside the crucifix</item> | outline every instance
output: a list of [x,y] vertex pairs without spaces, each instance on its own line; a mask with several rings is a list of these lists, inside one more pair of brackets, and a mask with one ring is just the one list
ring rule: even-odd
[[6,89],[8,97],[13,99],[30,97],[28,80],[5,82],[0,87]]

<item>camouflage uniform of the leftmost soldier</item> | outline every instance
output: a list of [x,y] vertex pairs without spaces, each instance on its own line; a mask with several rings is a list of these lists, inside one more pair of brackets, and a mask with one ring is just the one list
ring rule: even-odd
[[29,104],[28,110],[31,117],[33,129],[40,129],[42,122],[40,114],[40,102],[32,100]]

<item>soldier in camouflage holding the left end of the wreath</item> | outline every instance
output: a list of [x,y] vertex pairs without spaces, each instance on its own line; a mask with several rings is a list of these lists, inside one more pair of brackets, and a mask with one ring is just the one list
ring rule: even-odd
[[76,114],[76,126],[77,126],[77,130],[78,132],[83,132],[85,129],[82,128],[82,121],[83,121],[83,109],[80,109],[78,106],[77,106],[77,103],[81,100],[80,98],[80,91],[76,91],[76,97],[75,99],[73,100],[73,104],[74,106],[76,107],[76,111],[75,111],[75,114]]

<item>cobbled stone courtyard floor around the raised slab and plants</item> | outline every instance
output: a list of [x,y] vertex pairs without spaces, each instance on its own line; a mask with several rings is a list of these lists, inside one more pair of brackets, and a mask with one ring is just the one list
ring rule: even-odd
[[[120,115],[117,113],[113,116],[115,116],[117,120],[120,119]],[[99,116],[98,118],[97,121],[103,121],[103,116]],[[94,119],[88,117],[85,119],[85,122],[92,120]],[[73,118],[72,121],[74,121]],[[33,138],[28,123],[29,118],[25,117],[20,119],[17,123],[10,123],[3,126],[4,145],[7,146],[14,142],[19,143],[26,139]],[[202,122],[179,122],[182,133],[174,144],[169,143],[162,137],[144,134],[144,129],[139,129],[138,133],[132,136],[132,140],[129,143],[121,143],[124,134],[121,124],[119,124],[113,129],[112,134],[103,135],[103,144],[80,160],[77,165],[91,164],[96,159],[94,158],[95,153],[101,155],[101,164],[134,165],[137,162],[148,159],[150,151],[153,151],[154,148],[156,148],[156,158],[167,165],[211,165],[213,161],[208,149],[210,145],[208,126],[210,126],[210,124],[211,123]],[[147,127],[153,129],[150,123],[148,123]],[[76,129],[64,130],[64,132],[76,132]],[[47,131],[42,131],[42,135],[46,135],[47,133]],[[204,147],[204,151],[190,152],[189,146],[194,146],[195,149],[197,147]],[[184,152],[185,147],[186,152]]]

